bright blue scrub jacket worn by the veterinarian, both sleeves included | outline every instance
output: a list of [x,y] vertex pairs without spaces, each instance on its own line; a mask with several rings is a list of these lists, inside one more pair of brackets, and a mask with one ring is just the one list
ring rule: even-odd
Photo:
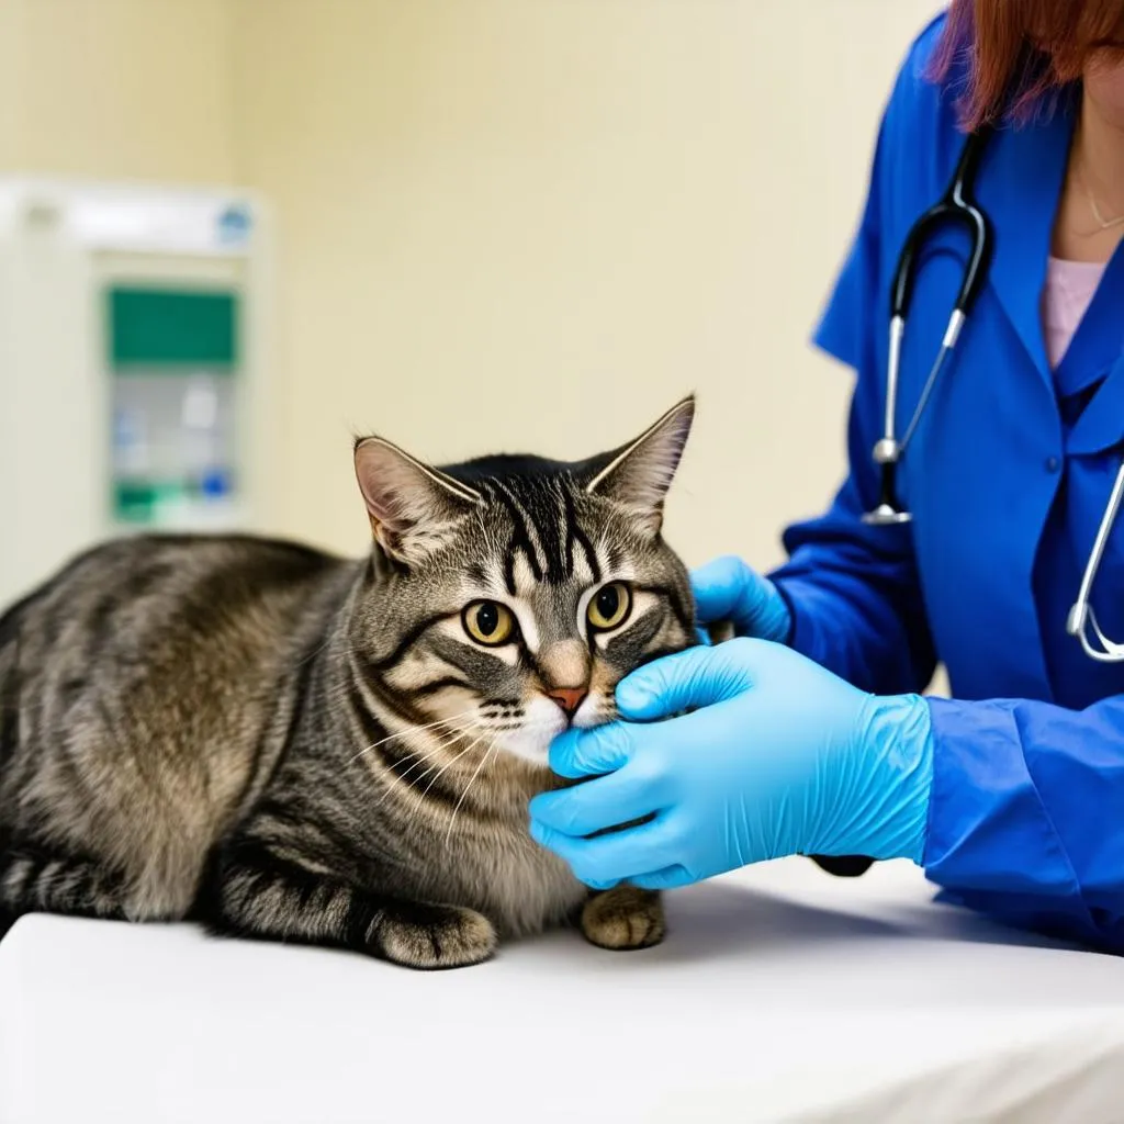
[[[1124,250],[1057,371],[1041,328],[1051,227],[1077,93],[989,143],[977,197],[995,232],[986,288],[899,468],[912,524],[868,527],[878,500],[889,290],[916,217],[963,145],[952,94],[913,44],[886,107],[860,228],[816,343],[856,373],[849,475],[828,510],[786,529],[772,577],[791,644],[878,694],[931,698],[934,785],[923,864],[997,919],[1124,952],[1124,665],[1064,631],[1124,438]],[[898,433],[913,415],[960,287],[967,238],[931,237],[903,350]],[[1094,587],[1124,642],[1124,519]]]

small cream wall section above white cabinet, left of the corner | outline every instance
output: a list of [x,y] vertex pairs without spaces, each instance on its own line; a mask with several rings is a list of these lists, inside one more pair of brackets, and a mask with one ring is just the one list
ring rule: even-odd
[[236,170],[230,0],[0,0],[0,171]]

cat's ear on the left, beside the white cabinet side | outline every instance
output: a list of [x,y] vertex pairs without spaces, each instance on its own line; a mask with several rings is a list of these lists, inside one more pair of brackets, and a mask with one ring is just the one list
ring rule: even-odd
[[399,562],[423,561],[448,542],[480,493],[381,437],[355,443],[355,478],[375,542]]

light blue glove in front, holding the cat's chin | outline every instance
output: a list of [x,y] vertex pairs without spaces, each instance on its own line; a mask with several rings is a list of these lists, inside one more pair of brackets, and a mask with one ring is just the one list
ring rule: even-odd
[[616,697],[635,723],[551,745],[556,773],[595,779],[531,801],[533,837],[587,885],[668,889],[794,854],[921,862],[933,772],[921,696],[868,695],[791,649],[733,640],[655,660]]

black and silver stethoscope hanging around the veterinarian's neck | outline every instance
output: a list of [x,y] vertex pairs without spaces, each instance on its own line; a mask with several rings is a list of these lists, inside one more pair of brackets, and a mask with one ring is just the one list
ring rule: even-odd
[[[971,312],[972,305],[984,288],[987,279],[987,270],[991,262],[992,234],[991,225],[987,216],[976,202],[972,187],[976,179],[976,171],[979,167],[980,156],[990,137],[991,129],[984,127],[972,133],[964,142],[964,147],[957,162],[952,180],[941,199],[925,211],[910,227],[898,255],[897,269],[894,273],[894,283],[890,291],[890,339],[889,354],[886,364],[886,419],[882,436],[874,444],[873,459],[880,469],[880,486],[878,504],[867,511],[862,520],[872,526],[895,526],[909,523],[913,515],[906,510],[897,498],[897,466],[900,462],[909,441],[917,428],[930,395],[936,383],[937,375],[945,366],[950,355],[952,355],[964,324]],[[949,325],[941,341],[940,351],[933,365],[930,369],[928,378],[922,388],[914,409],[909,425],[899,441],[896,436],[896,416],[898,399],[898,380],[901,364],[901,341],[905,336],[906,319],[909,315],[909,301],[913,297],[913,285],[917,270],[918,251],[925,237],[932,233],[933,228],[942,223],[959,224],[968,232],[970,250],[968,263],[964,266],[964,275],[957,294],[955,303],[952,306],[952,314],[949,317]],[[1096,579],[1097,570],[1100,568],[1100,560],[1105,552],[1105,544],[1116,515],[1120,510],[1121,501],[1124,499],[1124,460],[1116,473],[1116,481],[1113,484],[1112,495],[1105,505],[1105,513],[1100,518],[1100,526],[1089,552],[1089,559],[1081,577],[1081,584],[1078,589],[1077,600],[1069,610],[1066,618],[1066,631],[1070,636],[1076,636],[1081,642],[1085,653],[1094,660],[1105,663],[1117,663],[1124,661],[1124,644],[1117,644],[1108,640],[1097,625],[1096,615],[1089,598],[1093,591],[1093,582]],[[1096,641],[1100,647],[1097,649],[1089,640],[1088,631],[1091,626]]]

